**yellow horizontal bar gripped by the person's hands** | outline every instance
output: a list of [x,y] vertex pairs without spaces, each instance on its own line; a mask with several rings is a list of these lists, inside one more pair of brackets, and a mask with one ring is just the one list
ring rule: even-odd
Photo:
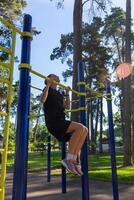
[[[30,72],[33,73],[33,74],[35,74],[36,76],[39,76],[40,78],[43,78],[43,79],[47,80],[48,82],[55,83],[55,84],[58,85],[60,88],[68,89],[67,86],[65,86],[65,85],[63,85],[63,84],[61,84],[61,83],[58,83],[58,82],[56,82],[56,81],[52,81],[50,78],[48,78],[48,77],[46,77],[46,76],[40,74],[39,72],[34,71],[33,69],[30,69]],[[73,89],[70,89],[70,91],[72,91],[74,94],[77,94],[78,96],[86,96],[86,93],[84,93],[84,92],[78,92],[78,91],[73,90]]]

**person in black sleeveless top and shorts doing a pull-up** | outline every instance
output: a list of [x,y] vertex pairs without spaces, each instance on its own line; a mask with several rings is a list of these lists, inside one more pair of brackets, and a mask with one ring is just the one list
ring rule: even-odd
[[48,131],[59,141],[68,141],[68,153],[62,165],[72,173],[83,175],[81,167],[78,166],[76,160],[82,148],[85,138],[88,133],[87,127],[84,125],[65,119],[65,109],[70,108],[69,87],[66,89],[66,95],[57,91],[57,86],[53,81],[60,82],[60,79],[55,74],[48,76],[51,83],[45,81],[44,88],[40,101],[43,103],[45,121]]

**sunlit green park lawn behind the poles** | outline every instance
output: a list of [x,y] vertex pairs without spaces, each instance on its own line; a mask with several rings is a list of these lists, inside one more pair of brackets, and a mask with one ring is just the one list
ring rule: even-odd
[[[8,156],[8,169],[13,169],[13,154]],[[61,155],[60,152],[52,153],[52,174],[61,174]],[[117,155],[117,173],[119,183],[134,184],[134,167],[122,167],[123,156]],[[89,156],[89,178],[90,180],[110,181],[111,167],[110,156]],[[46,153],[30,152],[28,161],[29,172],[45,171],[47,169]]]

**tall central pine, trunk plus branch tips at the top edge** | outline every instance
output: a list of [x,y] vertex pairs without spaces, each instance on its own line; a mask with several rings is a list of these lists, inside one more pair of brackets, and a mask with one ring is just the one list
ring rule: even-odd
[[[51,0],[52,1],[52,0]],[[83,6],[89,0],[75,0],[74,1],[74,10],[73,10],[73,82],[72,87],[73,89],[77,90],[77,65],[78,62],[82,60],[82,11]],[[94,8],[96,4],[98,8],[105,10],[105,6],[108,0],[92,0],[91,9]],[[60,7],[63,5],[64,0],[57,1]],[[72,100],[77,99],[75,94],[72,94]],[[72,102],[72,109],[78,107],[77,103]],[[72,120],[78,121],[77,113],[72,113]]]

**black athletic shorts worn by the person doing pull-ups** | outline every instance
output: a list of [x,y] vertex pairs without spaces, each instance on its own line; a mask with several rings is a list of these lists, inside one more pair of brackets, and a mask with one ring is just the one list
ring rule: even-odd
[[66,133],[71,121],[60,119],[56,121],[49,121],[46,123],[48,131],[57,138],[58,141],[69,141],[71,133]]

